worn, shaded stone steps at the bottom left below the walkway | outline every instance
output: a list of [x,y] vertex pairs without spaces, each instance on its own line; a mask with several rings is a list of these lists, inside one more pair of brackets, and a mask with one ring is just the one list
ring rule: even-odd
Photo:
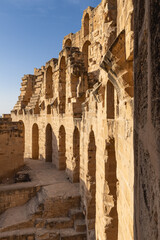
[[52,196],[42,187],[22,206],[0,215],[0,240],[85,240],[80,196]]

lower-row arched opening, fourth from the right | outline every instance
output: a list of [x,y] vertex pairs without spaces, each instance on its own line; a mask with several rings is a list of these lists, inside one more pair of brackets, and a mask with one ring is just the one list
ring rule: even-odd
[[64,126],[59,129],[59,169],[66,169],[66,132]]

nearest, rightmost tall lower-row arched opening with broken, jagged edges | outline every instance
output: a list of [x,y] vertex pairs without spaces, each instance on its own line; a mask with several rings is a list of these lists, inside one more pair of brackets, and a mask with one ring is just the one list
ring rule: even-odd
[[[108,199],[110,199],[109,202]],[[114,139],[111,139],[109,143],[106,143],[104,210],[107,217],[106,219],[109,220],[106,224],[106,237],[107,239],[117,240],[117,162]]]

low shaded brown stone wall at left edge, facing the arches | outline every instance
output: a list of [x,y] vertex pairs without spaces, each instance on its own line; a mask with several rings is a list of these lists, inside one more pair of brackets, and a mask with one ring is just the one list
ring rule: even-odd
[[23,166],[24,132],[23,124],[0,119],[0,179]]

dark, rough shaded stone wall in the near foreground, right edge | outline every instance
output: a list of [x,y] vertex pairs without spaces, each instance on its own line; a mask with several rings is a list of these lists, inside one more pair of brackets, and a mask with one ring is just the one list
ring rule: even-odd
[[160,238],[160,2],[134,1],[135,239]]

